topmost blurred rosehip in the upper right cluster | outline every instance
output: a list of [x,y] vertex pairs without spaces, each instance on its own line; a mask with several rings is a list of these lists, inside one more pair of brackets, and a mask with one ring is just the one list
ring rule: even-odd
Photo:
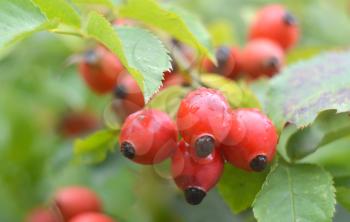
[[262,8],[250,27],[249,39],[267,38],[284,50],[293,47],[299,38],[295,17],[284,6],[273,4]]

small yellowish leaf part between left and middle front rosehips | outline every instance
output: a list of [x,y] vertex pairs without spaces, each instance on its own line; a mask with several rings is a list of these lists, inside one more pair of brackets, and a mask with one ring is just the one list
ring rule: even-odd
[[181,86],[170,86],[163,89],[151,99],[147,107],[157,109],[168,113],[175,118],[176,112],[180,106],[182,98],[188,93],[189,89]]

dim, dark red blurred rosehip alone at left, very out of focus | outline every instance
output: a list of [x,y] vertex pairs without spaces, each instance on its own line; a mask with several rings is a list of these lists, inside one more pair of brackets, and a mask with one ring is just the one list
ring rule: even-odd
[[64,137],[76,137],[96,129],[99,121],[95,115],[89,112],[71,112],[63,116],[60,121],[59,131]]

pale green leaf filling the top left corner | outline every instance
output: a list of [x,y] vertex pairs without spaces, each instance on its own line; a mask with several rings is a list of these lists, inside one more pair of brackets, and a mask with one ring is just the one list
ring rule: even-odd
[[55,25],[50,23],[31,1],[0,0],[0,47]]

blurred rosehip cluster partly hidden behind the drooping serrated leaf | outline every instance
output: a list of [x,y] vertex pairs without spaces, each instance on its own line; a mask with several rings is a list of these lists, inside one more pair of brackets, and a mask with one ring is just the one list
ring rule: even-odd
[[[112,108],[124,119],[133,112],[142,109],[145,101],[137,82],[126,72],[119,59],[103,46],[89,50],[79,64],[79,73],[89,88],[99,95],[113,93],[116,100]],[[182,75],[173,70],[164,72],[164,89],[185,82]]]

